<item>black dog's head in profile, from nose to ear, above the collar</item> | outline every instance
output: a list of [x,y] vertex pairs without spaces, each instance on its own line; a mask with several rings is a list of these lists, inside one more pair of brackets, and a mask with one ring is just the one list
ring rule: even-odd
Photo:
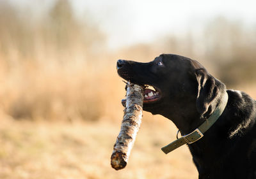
[[116,68],[125,80],[145,85],[143,110],[172,120],[209,117],[225,91],[201,64],[180,55],[163,54],[147,63],[118,60]]

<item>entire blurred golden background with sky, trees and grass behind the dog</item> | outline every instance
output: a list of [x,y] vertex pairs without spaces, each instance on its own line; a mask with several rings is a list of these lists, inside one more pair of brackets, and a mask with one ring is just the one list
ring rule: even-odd
[[0,0],[0,178],[197,178],[176,127],[143,113],[125,169],[110,156],[116,61],[179,54],[256,98],[253,1]]

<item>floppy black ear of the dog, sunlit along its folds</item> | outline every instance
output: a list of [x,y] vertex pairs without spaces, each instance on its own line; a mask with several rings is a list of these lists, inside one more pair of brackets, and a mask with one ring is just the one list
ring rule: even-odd
[[205,68],[195,70],[198,82],[196,109],[201,117],[209,117],[220,103],[221,96],[226,87],[219,80],[207,73]]

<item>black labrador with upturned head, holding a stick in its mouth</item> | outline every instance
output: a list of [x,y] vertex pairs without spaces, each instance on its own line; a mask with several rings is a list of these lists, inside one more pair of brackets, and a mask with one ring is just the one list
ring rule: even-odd
[[[225,110],[188,145],[199,178],[256,178],[256,101],[238,90],[227,90],[197,61],[162,54],[141,63],[118,60],[118,75],[145,85],[143,110],[172,120],[182,135],[207,121],[228,94]],[[148,88],[148,85],[154,89]]]

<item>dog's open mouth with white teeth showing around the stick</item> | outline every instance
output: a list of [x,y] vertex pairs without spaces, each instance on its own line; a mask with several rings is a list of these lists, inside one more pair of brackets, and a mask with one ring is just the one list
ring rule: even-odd
[[[143,103],[154,103],[161,99],[161,92],[157,87],[151,85],[144,85],[144,99]],[[122,99],[122,104],[125,106],[126,99]]]

